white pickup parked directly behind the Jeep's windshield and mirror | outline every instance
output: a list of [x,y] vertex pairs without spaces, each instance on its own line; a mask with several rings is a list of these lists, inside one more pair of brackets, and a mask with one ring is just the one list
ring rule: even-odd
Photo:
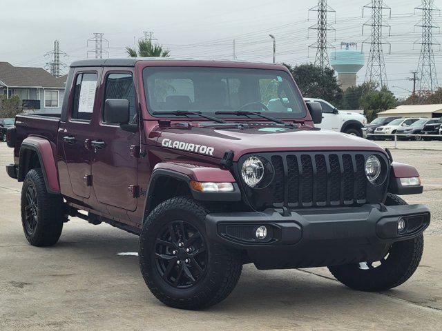
[[304,98],[304,100],[305,102],[318,102],[323,107],[323,122],[316,127],[367,138],[365,129],[367,118],[363,114],[338,110],[332,103],[323,99]]

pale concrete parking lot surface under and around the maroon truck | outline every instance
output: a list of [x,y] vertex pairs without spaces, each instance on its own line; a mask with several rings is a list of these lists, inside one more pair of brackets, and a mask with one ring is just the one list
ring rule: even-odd
[[414,148],[392,150],[395,161],[419,169],[425,185],[423,194],[405,199],[432,210],[412,279],[365,293],[345,288],[326,268],[245,265],[230,297],[193,312],[153,297],[137,257],[118,254],[137,252],[137,237],[110,225],[71,219],[54,247],[29,245],[20,223],[21,183],[4,170],[12,150],[0,143],[0,330],[441,330],[442,152]]

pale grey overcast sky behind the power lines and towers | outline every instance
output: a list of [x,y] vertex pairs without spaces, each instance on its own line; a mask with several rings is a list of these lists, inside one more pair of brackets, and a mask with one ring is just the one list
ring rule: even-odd
[[[335,11],[329,12],[328,21],[335,32],[329,31],[329,43],[340,48],[341,41],[358,43],[369,41],[370,9],[363,6],[369,0],[328,0]],[[68,65],[77,59],[94,57],[95,44],[87,42],[94,32],[104,33],[109,41],[104,49],[109,57],[127,57],[126,46],[153,31],[153,37],[172,57],[202,59],[232,59],[233,39],[236,58],[247,61],[272,61],[272,40],[276,37],[276,61],[297,65],[314,61],[316,50],[309,45],[316,42],[316,31],[309,26],[316,23],[313,0],[15,0],[0,10],[0,61],[14,66],[44,67],[51,61],[50,52],[55,39],[60,50],[66,52],[61,61]],[[385,0],[391,8],[384,10],[386,25],[383,29],[385,65],[388,85],[397,97],[406,97],[412,90],[410,73],[417,69],[421,45],[420,28],[414,24],[421,12],[414,10],[419,0]],[[442,9],[442,0],[434,5]],[[440,25],[442,17],[434,12],[434,23]],[[442,41],[440,30],[434,30],[434,39]],[[104,46],[107,46],[106,43]],[[362,48],[365,59],[369,44]],[[329,50],[331,53],[332,50]],[[107,56],[107,54],[105,54]],[[442,51],[434,46],[436,71],[442,85]],[[62,71],[66,72],[67,67]],[[358,72],[358,83],[365,78],[365,67]]]

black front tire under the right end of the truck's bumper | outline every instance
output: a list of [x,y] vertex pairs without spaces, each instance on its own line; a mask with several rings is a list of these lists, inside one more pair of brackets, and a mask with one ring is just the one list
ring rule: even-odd
[[[403,199],[388,194],[386,205],[405,205]],[[379,292],[401,285],[412,277],[423,253],[423,234],[414,239],[398,241],[388,251],[385,262],[373,269],[361,269],[358,263],[329,267],[333,276],[354,290]]]

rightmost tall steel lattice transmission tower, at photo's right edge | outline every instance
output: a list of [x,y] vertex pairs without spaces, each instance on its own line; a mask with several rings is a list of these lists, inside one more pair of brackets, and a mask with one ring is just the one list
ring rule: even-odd
[[434,92],[437,88],[437,74],[434,63],[433,45],[439,45],[433,39],[433,29],[439,28],[433,23],[433,12],[439,11],[434,8],[434,0],[422,0],[421,7],[416,10],[422,10],[422,19],[415,25],[422,30],[422,40],[415,43],[421,44],[421,55],[417,66],[419,77],[419,92]]

